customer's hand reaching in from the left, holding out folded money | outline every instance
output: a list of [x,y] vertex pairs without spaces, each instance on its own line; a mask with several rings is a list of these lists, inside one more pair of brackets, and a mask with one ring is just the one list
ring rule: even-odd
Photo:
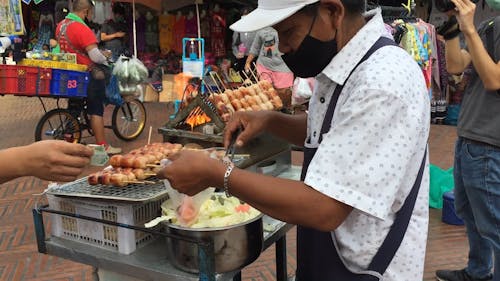
[[20,168],[25,176],[67,182],[75,180],[90,163],[94,151],[65,141],[35,142],[23,149]]

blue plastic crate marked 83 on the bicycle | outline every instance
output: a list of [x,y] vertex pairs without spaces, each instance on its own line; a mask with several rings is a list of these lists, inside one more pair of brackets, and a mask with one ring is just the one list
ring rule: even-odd
[[89,74],[73,70],[52,70],[50,92],[54,96],[86,97]]

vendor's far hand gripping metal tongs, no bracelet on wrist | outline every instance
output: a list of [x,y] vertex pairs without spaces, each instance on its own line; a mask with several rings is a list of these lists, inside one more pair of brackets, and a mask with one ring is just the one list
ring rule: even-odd
[[236,130],[242,129],[241,134],[236,139],[236,146],[244,146],[248,141],[266,130],[267,122],[269,122],[272,114],[272,111],[236,112],[226,125],[224,145],[229,145],[232,134]]

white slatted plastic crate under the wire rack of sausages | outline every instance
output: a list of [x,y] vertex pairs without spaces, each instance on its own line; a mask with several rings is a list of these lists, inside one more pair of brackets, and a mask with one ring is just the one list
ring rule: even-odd
[[[71,199],[49,194],[47,199],[49,207],[54,210],[144,226],[146,222],[160,216],[161,204],[168,199],[168,195],[144,204]],[[52,235],[125,255],[156,238],[152,234],[133,229],[57,214],[51,216]]]

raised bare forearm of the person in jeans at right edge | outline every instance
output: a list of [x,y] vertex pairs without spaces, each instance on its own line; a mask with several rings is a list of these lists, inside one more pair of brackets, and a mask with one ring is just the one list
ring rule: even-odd
[[472,63],[483,81],[485,89],[500,89],[500,64],[493,61],[475,29],[467,33],[464,32],[464,35]]

